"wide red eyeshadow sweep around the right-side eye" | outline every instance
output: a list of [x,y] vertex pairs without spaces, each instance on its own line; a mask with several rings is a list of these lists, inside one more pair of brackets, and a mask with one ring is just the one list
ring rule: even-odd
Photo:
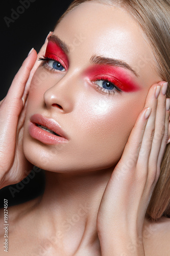
[[93,65],[83,74],[91,81],[108,79],[124,92],[136,92],[140,87],[133,81],[134,74],[124,68],[109,65]]

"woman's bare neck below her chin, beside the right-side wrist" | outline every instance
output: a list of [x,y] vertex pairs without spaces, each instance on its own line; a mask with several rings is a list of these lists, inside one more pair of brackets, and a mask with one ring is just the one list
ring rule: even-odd
[[96,218],[112,172],[113,167],[74,174],[45,172],[45,190],[38,204],[41,222],[48,227],[47,236],[53,236],[58,246],[62,244],[66,255],[88,246],[99,249]]

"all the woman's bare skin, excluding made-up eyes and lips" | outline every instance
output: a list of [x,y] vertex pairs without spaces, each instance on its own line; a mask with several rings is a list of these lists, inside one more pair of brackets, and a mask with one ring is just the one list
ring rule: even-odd
[[[147,39],[126,11],[85,3],[53,34],[71,46],[80,33],[85,39],[68,54],[67,71],[39,66],[33,50],[1,101],[1,187],[22,180],[33,164],[49,171],[42,196],[9,207],[8,254],[169,255],[169,219],[153,224],[144,218],[170,140],[165,81],[156,74]],[[46,46],[47,40],[38,57]],[[140,67],[134,78],[140,91],[121,97],[97,92],[82,76],[93,54]],[[154,65],[139,65],[136,56],[143,54]],[[147,108],[152,111],[145,119]],[[47,146],[31,138],[28,123],[35,113],[58,121],[69,143]]]

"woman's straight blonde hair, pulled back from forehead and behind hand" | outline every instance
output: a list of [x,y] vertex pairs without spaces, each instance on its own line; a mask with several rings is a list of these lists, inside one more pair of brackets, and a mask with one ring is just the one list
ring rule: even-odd
[[[157,72],[168,82],[166,96],[170,98],[170,3],[169,0],[75,0],[60,17],[56,26],[73,9],[84,2],[116,4],[133,15],[147,35],[157,60]],[[146,217],[157,221],[162,216],[170,218],[170,143],[166,145],[159,179],[154,188]]]

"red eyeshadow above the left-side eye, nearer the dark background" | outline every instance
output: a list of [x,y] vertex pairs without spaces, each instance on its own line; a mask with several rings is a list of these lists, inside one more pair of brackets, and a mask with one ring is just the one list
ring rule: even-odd
[[66,54],[55,42],[51,40],[48,41],[45,57],[56,59],[56,61],[61,62],[61,65],[66,69],[68,67],[68,58]]

